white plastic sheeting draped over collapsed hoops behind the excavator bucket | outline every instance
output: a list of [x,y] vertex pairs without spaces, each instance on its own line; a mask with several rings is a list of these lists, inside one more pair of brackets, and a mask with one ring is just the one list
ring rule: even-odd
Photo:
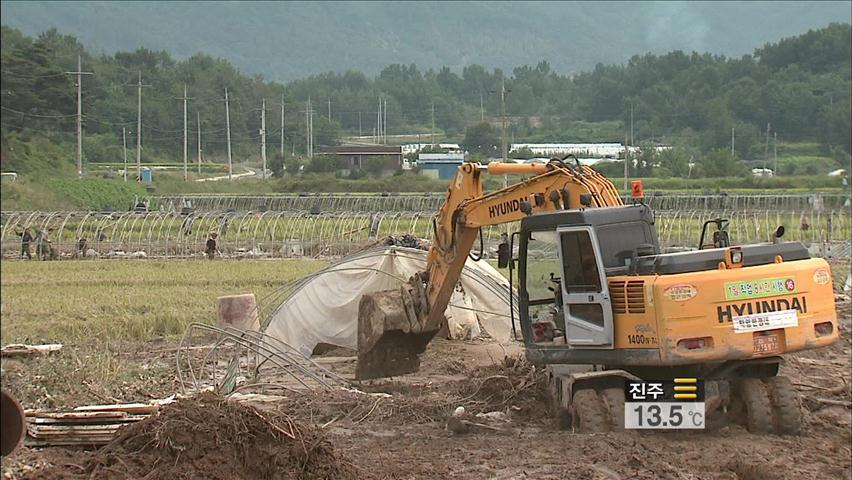
[[[399,287],[426,266],[426,252],[388,247],[329,266],[311,276],[275,309],[265,333],[304,355],[317,344],[357,348],[361,296]],[[451,338],[474,338],[482,328],[499,342],[511,338],[509,282],[485,261],[468,259],[461,288],[447,309]]]

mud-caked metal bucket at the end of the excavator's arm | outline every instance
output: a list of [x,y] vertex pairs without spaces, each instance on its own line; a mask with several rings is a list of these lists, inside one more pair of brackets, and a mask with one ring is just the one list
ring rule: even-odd
[[361,297],[356,380],[403,375],[420,368],[419,354],[437,331],[421,331],[414,303],[405,286]]

